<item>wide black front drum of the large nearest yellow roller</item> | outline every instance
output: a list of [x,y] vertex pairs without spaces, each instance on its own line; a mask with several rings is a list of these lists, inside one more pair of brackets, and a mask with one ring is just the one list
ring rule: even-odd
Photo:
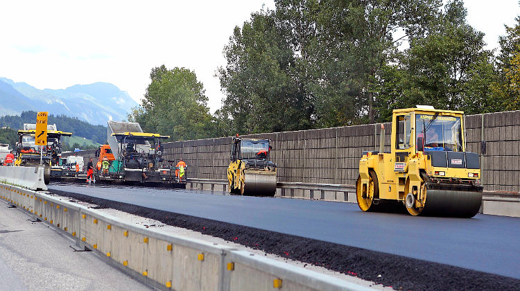
[[472,218],[482,204],[482,192],[428,188],[421,215]]

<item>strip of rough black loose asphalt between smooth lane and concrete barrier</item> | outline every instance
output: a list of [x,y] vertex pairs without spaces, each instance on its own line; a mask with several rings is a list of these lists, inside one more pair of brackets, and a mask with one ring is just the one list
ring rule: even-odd
[[238,224],[184,215],[103,198],[50,191],[56,195],[116,209],[164,224],[199,231],[253,249],[357,276],[395,290],[520,290],[520,280],[462,267],[374,252]]

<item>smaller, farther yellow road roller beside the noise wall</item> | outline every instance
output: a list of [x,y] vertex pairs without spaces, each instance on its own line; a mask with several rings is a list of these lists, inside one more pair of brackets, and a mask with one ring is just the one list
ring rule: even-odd
[[269,160],[272,149],[268,139],[245,139],[237,134],[227,167],[229,193],[274,196],[276,164]]

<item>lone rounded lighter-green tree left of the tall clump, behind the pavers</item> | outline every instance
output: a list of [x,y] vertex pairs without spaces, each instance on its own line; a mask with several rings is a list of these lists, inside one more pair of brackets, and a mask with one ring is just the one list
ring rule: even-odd
[[151,82],[142,100],[128,115],[146,132],[170,135],[171,140],[202,139],[211,136],[212,116],[207,96],[195,72],[164,65],[152,69]]

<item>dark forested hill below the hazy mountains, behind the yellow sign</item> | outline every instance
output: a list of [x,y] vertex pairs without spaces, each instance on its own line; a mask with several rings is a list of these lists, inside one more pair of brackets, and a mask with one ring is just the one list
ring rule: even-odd
[[[36,112],[21,112],[20,116],[1,116],[0,117],[0,127],[10,127],[14,130],[19,130],[24,127],[24,123],[35,123],[36,121]],[[92,125],[85,121],[80,121],[77,117],[68,117],[68,116],[55,116],[54,114],[49,114],[48,121],[49,124],[55,124],[58,127],[58,130],[62,132],[72,132],[73,136],[80,136],[94,143],[105,143],[107,140],[107,127],[103,125]],[[87,142],[90,144],[90,142]],[[83,145],[83,143],[80,143]]]

